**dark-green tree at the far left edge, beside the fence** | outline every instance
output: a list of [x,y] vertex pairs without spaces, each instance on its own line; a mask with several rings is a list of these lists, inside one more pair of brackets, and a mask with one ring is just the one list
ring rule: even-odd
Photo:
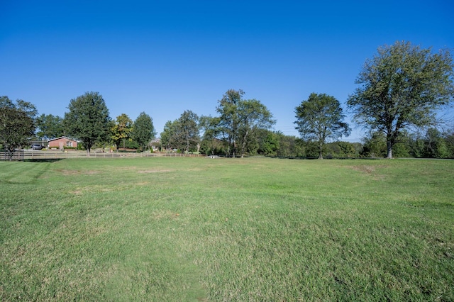
[[12,160],[15,150],[28,144],[35,132],[35,106],[23,100],[16,104],[8,96],[0,96],[0,143]]

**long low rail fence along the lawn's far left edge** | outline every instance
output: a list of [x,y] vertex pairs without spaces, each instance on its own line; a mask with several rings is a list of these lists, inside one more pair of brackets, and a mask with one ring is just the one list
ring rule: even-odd
[[[129,153],[129,152],[85,152],[85,151],[16,151],[11,160],[63,160],[66,158],[134,158],[134,157],[203,157],[204,155],[182,153]],[[0,160],[9,160],[6,152],[0,152]]]

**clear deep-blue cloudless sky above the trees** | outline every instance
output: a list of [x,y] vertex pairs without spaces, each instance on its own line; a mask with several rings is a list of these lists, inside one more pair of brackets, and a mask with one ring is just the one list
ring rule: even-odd
[[[311,92],[344,104],[377,47],[454,48],[454,2],[0,0],[0,95],[64,116],[86,91],[112,118],[144,111],[159,133],[184,110],[216,116],[243,89],[298,135]],[[357,129],[348,139],[359,141]]]

